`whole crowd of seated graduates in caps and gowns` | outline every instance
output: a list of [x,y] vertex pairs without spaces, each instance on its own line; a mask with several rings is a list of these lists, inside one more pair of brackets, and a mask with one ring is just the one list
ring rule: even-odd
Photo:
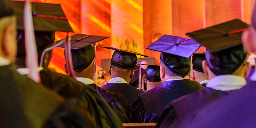
[[[234,19],[187,33],[189,38],[161,35],[147,47],[160,52],[160,66],[143,69],[137,58],[147,55],[104,47],[114,52],[110,79],[101,87],[94,79],[96,43],[109,37],[68,36],[68,21],[60,4],[0,0],[0,127],[256,127],[256,73],[249,62],[256,53],[256,3],[252,25]],[[57,31],[67,37],[55,41]],[[31,42],[39,82],[30,77]],[[48,68],[55,46],[65,49],[66,74]],[[206,52],[197,53],[201,46]]]

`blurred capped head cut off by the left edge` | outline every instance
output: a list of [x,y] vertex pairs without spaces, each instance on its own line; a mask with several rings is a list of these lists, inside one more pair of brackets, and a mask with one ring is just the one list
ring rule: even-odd
[[17,54],[16,17],[9,0],[0,1],[0,56],[15,62]]

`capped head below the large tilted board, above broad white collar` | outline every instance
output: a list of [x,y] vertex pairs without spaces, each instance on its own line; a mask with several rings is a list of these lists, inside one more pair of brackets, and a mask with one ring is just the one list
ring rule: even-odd
[[[242,45],[237,45],[219,52],[206,52],[204,70],[212,72],[216,76],[237,75],[247,77],[250,64],[246,62],[247,54]],[[208,67],[208,68],[206,68]],[[209,73],[208,73],[209,74]],[[212,76],[209,76],[212,77]]]

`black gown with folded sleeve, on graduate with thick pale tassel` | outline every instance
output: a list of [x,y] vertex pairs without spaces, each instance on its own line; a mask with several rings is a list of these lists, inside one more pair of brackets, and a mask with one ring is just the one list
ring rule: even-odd
[[58,92],[64,98],[78,96],[89,109],[98,128],[123,127],[117,115],[92,86],[85,85],[70,76],[56,73],[49,68],[44,68],[40,75],[44,86]]

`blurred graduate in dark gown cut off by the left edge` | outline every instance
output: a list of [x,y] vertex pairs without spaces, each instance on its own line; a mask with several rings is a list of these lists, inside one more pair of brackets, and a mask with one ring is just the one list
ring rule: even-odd
[[16,16],[9,0],[1,0],[0,8],[0,126],[96,128],[81,101],[64,101],[56,92],[16,71]]

